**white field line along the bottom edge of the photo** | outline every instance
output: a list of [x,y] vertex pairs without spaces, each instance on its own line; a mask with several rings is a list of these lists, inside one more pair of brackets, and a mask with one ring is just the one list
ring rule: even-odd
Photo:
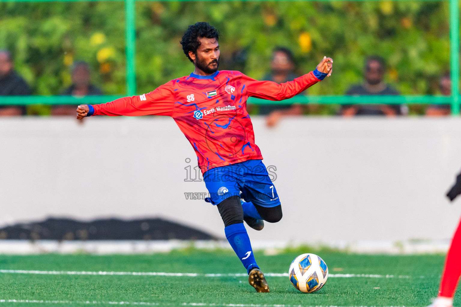
[[[174,303],[150,303],[145,301],[44,301],[44,300],[0,300],[0,303],[42,303],[42,304],[86,304],[86,305],[151,305],[151,306],[177,306]],[[289,304],[215,304],[215,303],[182,303],[180,306],[222,306],[222,307],[341,307],[341,306],[309,306]],[[354,306],[349,306],[354,307]],[[366,307],[366,306],[360,306]],[[370,306],[376,307],[376,306]],[[389,306],[397,307],[397,306]],[[404,307],[404,306],[402,306]]]

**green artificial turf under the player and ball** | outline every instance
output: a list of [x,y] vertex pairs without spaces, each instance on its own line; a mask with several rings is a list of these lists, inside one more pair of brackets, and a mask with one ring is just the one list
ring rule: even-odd
[[[263,272],[283,273],[307,249],[279,255],[256,252]],[[69,306],[113,302],[159,306],[427,306],[437,295],[442,255],[352,255],[317,251],[330,274],[380,274],[391,278],[330,277],[315,293],[301,293],[288,277],[267,277],[271,293],[256,293],[242,277],[100,276],[0,273],[1,306]],[[244,273],[230,251],[173,251],[154,255],[0,255],[1,270]],[[399,277],[401,276],[401,277]],[[403,277],[402,277],[403,276]],[[378,289],[376,289],[378,288]],[[8,302],[7,300],[35,300]],[[64,301],[42,302],[38,301]],[[461,305],[460,295],[455,306]]]

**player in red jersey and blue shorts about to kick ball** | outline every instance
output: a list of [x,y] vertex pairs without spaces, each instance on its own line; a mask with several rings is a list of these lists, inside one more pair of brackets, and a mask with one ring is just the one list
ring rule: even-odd
[[[85,116],[171,116],[194,147],[198,165],[216,205],[225,235],[248,272],[257,292],[269,292],[264,274],[254,259],[243,226],[261,230],[263,220],[282,218],[280,199],[254,143],[253,125],[246,110],[248,97],[268,100],[291,98],[330,76],[333,60],[324,57],[314,71],[277,84],[257,81],[239,71],[218,70],[219,31],[208,23],[190,25],[184,33],[183,52],[194,63],[192,74],[171,80],[153,92],[106,104],[79,105]],[[244,200],[244,201],[242,201]]]

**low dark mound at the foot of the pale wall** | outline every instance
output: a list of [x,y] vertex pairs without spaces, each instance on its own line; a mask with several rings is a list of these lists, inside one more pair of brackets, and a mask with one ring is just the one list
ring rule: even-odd
[[215,240],[200,230],[160,218],[90,222],[48,218],[0,228],[0,239],[25,240]]

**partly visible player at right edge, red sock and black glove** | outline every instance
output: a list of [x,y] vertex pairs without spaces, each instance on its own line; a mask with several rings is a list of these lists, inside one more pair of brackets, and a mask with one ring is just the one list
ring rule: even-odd
[[[456,183],[447,193],[450,201],[453,201],[461,194],[461,174],[456,177]],[[458,285],[461,276],[461,221],[455,231],[455,235],[451,240],[450,248],[445,259],[445,267],[443,268],[442,280],[438,296],[431,307],[452,307],[453,296],[455,295],[456,286]]]

